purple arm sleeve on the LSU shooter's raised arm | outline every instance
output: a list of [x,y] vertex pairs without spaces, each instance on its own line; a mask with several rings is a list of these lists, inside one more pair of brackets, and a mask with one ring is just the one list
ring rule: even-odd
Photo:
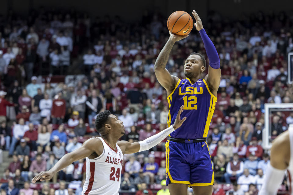
[[208,37],[204,29],[201,29],[199,31],[199,34],[201,35],[201,39],[204,42],[204,47],[207,52],[208,59],[210,60],[210,66],[214,69],[220,68],[220,58],[215,48],[215,45],[213,44],[211,39]]

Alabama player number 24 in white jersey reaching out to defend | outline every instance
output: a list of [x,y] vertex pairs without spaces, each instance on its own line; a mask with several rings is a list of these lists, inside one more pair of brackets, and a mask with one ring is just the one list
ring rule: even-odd
[[[129,143],[118,141],[125,134],[123,122],[111,114],[109,110],[99,113],[95,128],[101,137],[90,138],[82,146],[71,153],[65,154],[49,171],[41,172],[32,179],[32,183],[49,180],[54,174],[71,165],[74,161],[86,158],[86,175],[83,195],[118,195],[123,154],[149,150],[159,144],[168,134],[179,128],[186,117],[180,120],[183,112],[181,106],[173,126],[146,140]],[[118,142],[117,142],[118,141]]]

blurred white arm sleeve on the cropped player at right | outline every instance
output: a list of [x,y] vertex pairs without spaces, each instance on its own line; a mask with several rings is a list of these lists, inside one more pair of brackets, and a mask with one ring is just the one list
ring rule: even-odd
[[266,175],[258,195],[276,195],[284,179],[286,169],[280,170],[273,168],[269,163],[266,168]]

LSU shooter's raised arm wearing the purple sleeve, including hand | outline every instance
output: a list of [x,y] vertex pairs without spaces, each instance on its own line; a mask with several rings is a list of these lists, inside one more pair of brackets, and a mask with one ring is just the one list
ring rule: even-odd
[[208,75],[206,76],[205,80],[207,80],[208,87],[211,90],[212,94],[217,96],[217,91],[221,81],[220,58],[215,48],[215,45],[205,32],[204,27],[202,26],[201,19],[198,16],[197,12],[195,12],[195,10],[193,10],[192,15],[194,16],[196,22],[194,26],[201,35],[201,39],[204,42],[204,47],[210,61],[210,64],[208,66]]

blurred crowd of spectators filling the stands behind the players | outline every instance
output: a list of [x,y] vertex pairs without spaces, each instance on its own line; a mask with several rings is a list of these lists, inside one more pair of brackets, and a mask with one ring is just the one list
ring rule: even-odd
[[[153,70],[169,36],[166,17],[145,12],[137,23],[129,24],[118,16],[92,20],[74,10],[61,13],[40,8],[27,18],[12,12],[0,17],[0,141],[13,158],[0,181],[1,195],[80,194],[84,160],[54,176],[52,182],[58,184],[28,181],[86,139],[98,136],[93,122],[103,110],[124,122],[126,135],[121,140],[144,140],[166,128],[167,93]],[[237,20],[214,12],[208,16],[204,27],[219,52],[222,69],[207,137],[214,166],[213,195],[254,195],[269,163],[261,147],[264,104],[293,101],[293,87],[286,82],[293,15],[258,12]],[[193,51],[206,56],[195,30],[174,45],[166,68],[184,78],[184,59]],[[74,69],[79,75],[68,75]],[[49,73],[52,77],[44,80],[41,75]],[[57,74],[67,76],[62,82],[50,82]],[[275,113],[272,137],[290,123],[292,113]],[[124,155],[121,192],[145,195],[162,188],[157,195],[168,194],[165,141],[150,151]],[[68,187],[63,181],[70,182]]]

